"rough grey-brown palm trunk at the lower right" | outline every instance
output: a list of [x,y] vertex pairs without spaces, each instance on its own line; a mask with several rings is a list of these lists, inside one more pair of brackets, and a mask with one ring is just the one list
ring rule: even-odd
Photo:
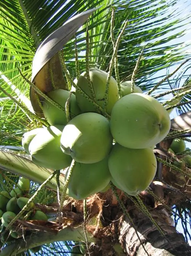
[[[169,225],[169,217],[165,215],[164,208],[158,206],[150,211],[152,217],[157,221],[165,233],[163,236],[156,226],[138,209],[131,212],[134,227],[128,218],[120,222],[119,241],[123,250],[129,256],[189,256],[191,246],[185,242],[183,235],[177,233],[174,226]],[[142,246],[142,244],[144,247]]]

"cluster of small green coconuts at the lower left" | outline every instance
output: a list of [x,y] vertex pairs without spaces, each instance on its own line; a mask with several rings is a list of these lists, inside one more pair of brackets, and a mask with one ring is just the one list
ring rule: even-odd
[[[15,188],[13,188],[10,192],[2,191],[0,192],[0,222],[1,222],[1,230],[3,233],[8,226],[8,224],[16,217],[16,215],[23,209],[23,207],[29,201],[29,190],[31,184],[30,180],[24,177],[20,177],[18,180],[18,184]],[[20,219],[23,219],[26,213],[31,211],[28,214],[27,220],[45,220],[47,221],[47,215],[44,212],[37,210],[34,208],[34,203],[31,203]],[[7,230],[1,236],[1,243],[9,243],[14,239],[19,239],[23,237],[24,231],[19,229],[17,226],[10,226],[9,230]]]

